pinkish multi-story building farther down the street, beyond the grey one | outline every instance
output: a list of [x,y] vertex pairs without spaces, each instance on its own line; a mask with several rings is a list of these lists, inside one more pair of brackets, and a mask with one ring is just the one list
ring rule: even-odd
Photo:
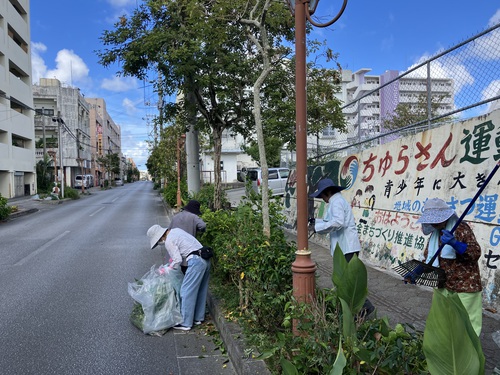
[[[112,178],[123,178],[125,159],[121,152],[121,128],[115,124],[102,98],[85,98],[90,107],[90,144],[92,145],[92,174],[99,184]],[[99,159],[111,154],[118,154],[120,159],[120,175],[112,176],[99,163]]]

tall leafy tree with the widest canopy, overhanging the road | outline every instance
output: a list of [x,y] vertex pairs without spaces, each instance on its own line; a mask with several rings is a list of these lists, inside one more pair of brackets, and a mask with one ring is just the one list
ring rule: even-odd
[[[229,1],[223,2],[228,5]],[[227,8],[199,0],[151,0],[134,13],[123,16],[114,31],[101,40],[109,47],[98,52],[100,63],[122,64],[121,74],[145,78],[151,69],[162,79],[155,85],[167,94],[184,93],[192,100],[179,100],[176,117],[163,112],[166,121],[187,127],[193,110],[197,127],[209,133],[214,165],[220,165],[222,132],[243,126],[251,116],[247,72],[252,68],[245,50],[245,35],[236,23],[221,22]],[[220,208],[221,172],[214,171],[214,204]]]

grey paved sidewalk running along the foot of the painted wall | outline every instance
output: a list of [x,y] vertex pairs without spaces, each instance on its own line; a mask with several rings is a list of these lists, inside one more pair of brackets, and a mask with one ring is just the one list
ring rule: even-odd
[[[287,232],[287,237],[290,241],[297,240],[296,235],[290,232]],[[311,238],[309,250],[317,265],[317,285],[331,288],[333,261],[330,249],[315,244]],[[376,308],[376,316],[387,316],[392,326],[409,323],[423,331],[432,302],[432,289],[405,285],[395,272],[365,265],[368,271],[368,297]],[[485,374],[500,374],[500,313],[483,311],[481,345],[486,358]],[[495,367],[498,372],[494,372]]]

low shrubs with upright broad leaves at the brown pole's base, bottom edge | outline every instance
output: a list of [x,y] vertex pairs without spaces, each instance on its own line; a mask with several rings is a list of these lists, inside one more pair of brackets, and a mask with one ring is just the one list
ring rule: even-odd
[[428,374],[422,332],[409,325],[394,329],[386,318],[366,320],[359,314],[366,298],[363,263],[334,253],[335,287],[317,293],[312,303],[290,300],[284,326],[274,346],[260,358],[280,374]]

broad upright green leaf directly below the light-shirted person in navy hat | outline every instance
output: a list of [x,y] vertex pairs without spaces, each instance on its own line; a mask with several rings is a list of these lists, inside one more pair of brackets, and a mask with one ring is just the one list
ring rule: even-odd
[[332,281],[337,287],[337,295],[344,299],[353,314],[357,314],[368,294],[368,276],[363,262],[355,255],[347,263],[340,247],[333,254]]

